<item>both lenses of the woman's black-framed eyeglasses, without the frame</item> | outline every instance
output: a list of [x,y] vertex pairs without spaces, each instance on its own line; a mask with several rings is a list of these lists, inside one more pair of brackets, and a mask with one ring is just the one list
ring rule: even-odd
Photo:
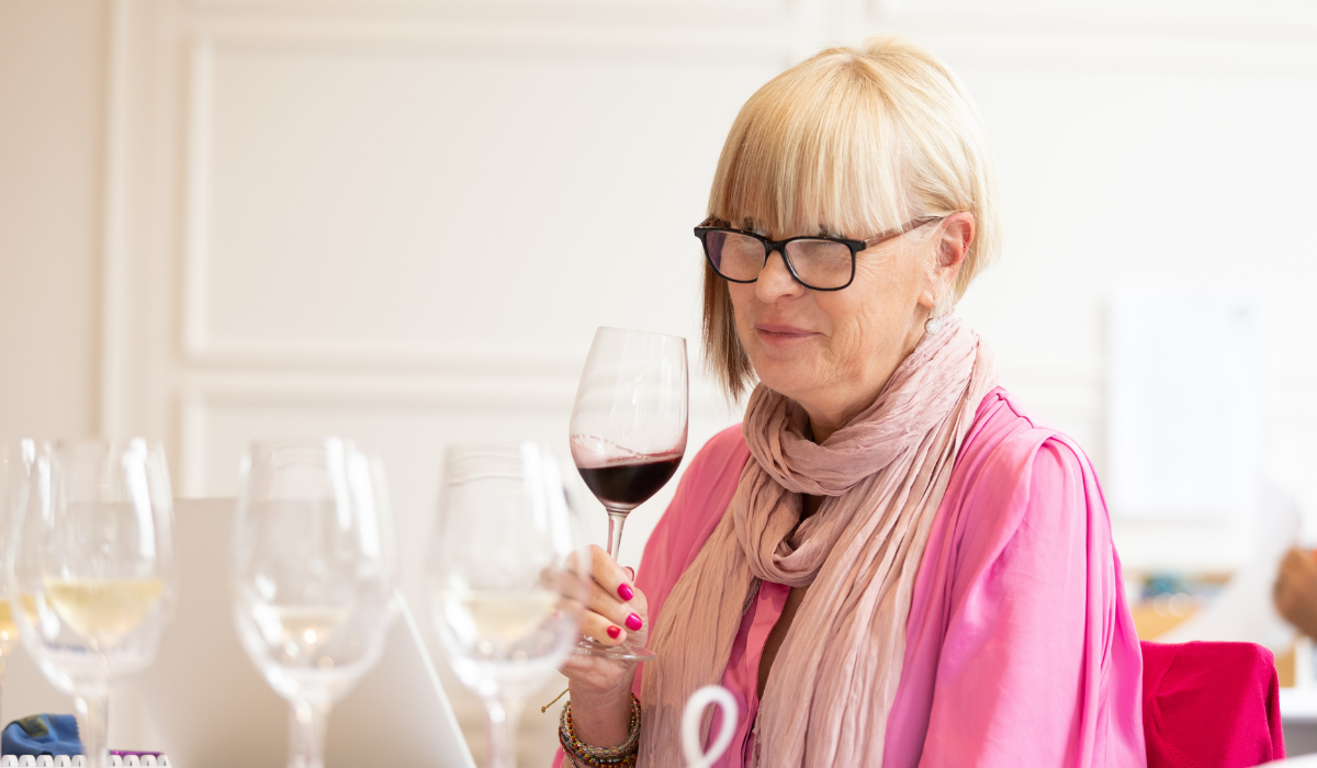
[[[710,232],[709,261],[727,279],[753,282],[768,262],[764,244],[736,232]],[[831,240],[793,240],[786,260],[801,282],[814,288],[838,288],[851,282],[851,249]]]

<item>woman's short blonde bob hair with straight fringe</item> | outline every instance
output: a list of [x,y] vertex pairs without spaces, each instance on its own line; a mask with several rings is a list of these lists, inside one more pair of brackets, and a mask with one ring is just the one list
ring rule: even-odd
[[[900,37],[830,47],[756,91],[727,134],[709,195],[711,219],[773,237],[868,238],[960,211],[973,215],[975,237],[938,316],[1001,249],[997,178],[964,86]],[[707,263],[703,337],[709,366],[738,399],[753,374],[727,282]]]

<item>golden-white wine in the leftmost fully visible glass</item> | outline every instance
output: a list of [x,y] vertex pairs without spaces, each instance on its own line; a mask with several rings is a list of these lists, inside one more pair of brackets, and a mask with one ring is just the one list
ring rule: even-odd
[[46,578],[46,599],[87,639],[113,645],[141,622],[165,590],[159,578]]

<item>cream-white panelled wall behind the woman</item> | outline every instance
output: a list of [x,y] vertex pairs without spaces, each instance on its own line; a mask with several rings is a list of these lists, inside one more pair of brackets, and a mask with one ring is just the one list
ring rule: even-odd
[[[0,0],[0,436],[158,436],[184,495],[232,494],[254,437],[354,436],[415,585],[444,445],[561,444],[597,325],[694,341],[736,109],[878,30],[986,121],[1008,241],[961,311],[1004,383],[1101,470],[1110,291],[1252,286],[1270,474],[1317,515],[1297,0]],[[694,398],[693,445],[736,420]],[[1129,565],[1230,564],[1223,531],[1117,534]]]

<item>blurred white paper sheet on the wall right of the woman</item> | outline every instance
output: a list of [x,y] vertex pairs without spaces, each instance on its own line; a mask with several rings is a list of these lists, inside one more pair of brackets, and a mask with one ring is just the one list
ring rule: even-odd
[[1108,343],[1112,511],[1185,522],[1251,516],[1266,391],[1256,298],[1121,288]]

